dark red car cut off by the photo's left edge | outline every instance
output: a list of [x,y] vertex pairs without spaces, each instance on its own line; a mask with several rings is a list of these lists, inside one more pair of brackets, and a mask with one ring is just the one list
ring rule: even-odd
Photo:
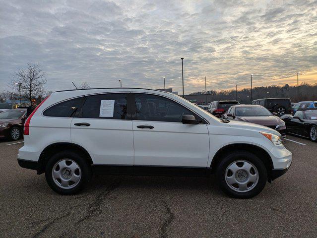
[[26,109],[12,109],[0,113],[0,137],[18,140],[23,135]]

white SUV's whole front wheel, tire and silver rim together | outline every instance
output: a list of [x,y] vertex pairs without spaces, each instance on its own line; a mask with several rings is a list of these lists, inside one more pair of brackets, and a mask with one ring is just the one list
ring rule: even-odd
[[264,163],[248,151],[225,155],[217,167],[220,188],[235,198],[251,198],[259,194],[267,181]]

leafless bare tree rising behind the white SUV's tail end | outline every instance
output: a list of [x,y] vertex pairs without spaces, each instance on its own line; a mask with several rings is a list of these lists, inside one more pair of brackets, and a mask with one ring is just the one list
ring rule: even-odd
[[45,72],[43,72],[40,64],[28,63],[26,69],[18,69],[12,77],[10,87],[19,92],[20,84],[21,94],[25,95],[30,101],[33,97],[42,98],[45,94]]

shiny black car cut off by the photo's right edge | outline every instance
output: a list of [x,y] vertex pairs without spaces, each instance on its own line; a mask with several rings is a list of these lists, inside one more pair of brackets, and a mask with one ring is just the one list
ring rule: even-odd
[[317,142],[317,108],[298,110],[294,116],[284,115],[281,119],[285,121],[287,133]]

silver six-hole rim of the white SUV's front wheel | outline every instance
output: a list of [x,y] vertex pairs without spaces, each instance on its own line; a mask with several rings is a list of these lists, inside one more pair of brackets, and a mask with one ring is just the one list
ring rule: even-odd
[[248,161],[239,160],[231,163],[225,172],[228,186],[237,192],[252,190],[259,179],[256,167]]

